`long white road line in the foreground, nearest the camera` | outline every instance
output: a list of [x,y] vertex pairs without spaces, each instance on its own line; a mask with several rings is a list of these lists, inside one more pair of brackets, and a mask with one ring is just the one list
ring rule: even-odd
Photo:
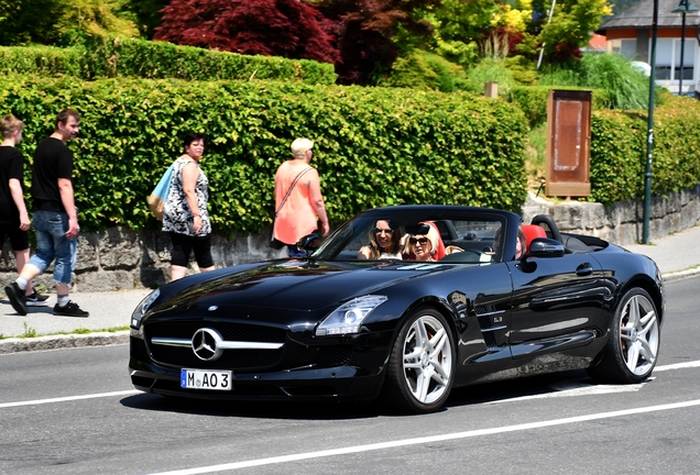
[[274,457],[267,457],[267,459],[251,460],[245,462],[232,462],[232,463],[220,464],[220,465],[209,465],[209,466],[203,466],[203,467],[196,467],[196,468],[185,468],[185,470],[178,470],[178,471],[172,471],[172,472],[158,472],[158,475],[190,475],[190,474],[194,475],[194,474],[203,474],[203,473],[231,471],[237,468],[250,468],[254,466],[272,465],[272,464],[278,464],[278,463],[286,463],[286,462],[297,462],[303,460],[320,459],[320,457],[328,457],[333,455],[347,455],[351,453],[370,452],[370,451],[394,449],[394,448],[402,448],[402,446],[408,446],[408,445],[420,445],[420,444],[428,444],[428,443],[435,443],[435,442],[445,442],[445,441],[452,441],[458,439],[474,438],[474,437],[481,437],[481,435],[493,435],[493,434],[505,433],[505,432],[542,429],[542,428],[547,428],[553,426],[564,426],[564,424],[587,422],[587,421],[600,420],[600,419],[610,419],[610,418],[616,418],[616,417],[623,417],[623,416],[657,412],[663,410],[682,409],[682,408],[688,408],[693,406],[700,406],[700,399],[690,400],[686,402],[648,406],[648,407],[636,408],[636,409],[625,409],[625,410],[611,411],[611,412],[599,412],[599,413],[592,413],[588,416],[577,416],[571,418],[554,419],[554,420],[540,421],[540,422],[529,422],[529,423],[523,423],[523,424],[516,424],[516,426],[505,426],[501,428],[479,429],[479,430],[467,431],[467,432],[455,432],[449,434],[431,435],[431,437],[424,437],[424,438],[416,438],[416,439],[404,439],[404,440],[380,442],[380,443],[367,444],[367,445],[354,445],[354,446],[349,446],[343,449],[330,449],[330,450],[318,451],[318,452],[306,452],[306,453],[298,453],[298,454],[291,454],[291,455],[281,455],[281,456],[274,456]]

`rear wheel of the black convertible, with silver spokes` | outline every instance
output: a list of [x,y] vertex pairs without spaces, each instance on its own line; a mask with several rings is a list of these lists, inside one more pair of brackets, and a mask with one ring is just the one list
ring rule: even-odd
[[641,383],[649,377],[658,356],[660,329],[654,300],[641,288],[628,290],[620,301],[603,357],[588,369],[610,383]]

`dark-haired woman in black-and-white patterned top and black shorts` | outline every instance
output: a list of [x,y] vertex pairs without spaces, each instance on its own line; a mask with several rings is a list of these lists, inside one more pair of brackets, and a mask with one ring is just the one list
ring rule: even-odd
[[199,168],[204,134],[185,135],[185,153],[173,164],[171,190],[163,208],[163,232],[171,234],[171,280],[185,277],[189,254],[195,251],[199,270],[214,270],[211,222],[207,201],[209,180]]

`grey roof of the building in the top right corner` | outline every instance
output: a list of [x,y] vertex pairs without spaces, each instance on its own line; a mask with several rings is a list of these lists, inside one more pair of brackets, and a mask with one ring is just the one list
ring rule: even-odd
[[[652,27],[652,21],[654,19],[654,1],[655,0],[639,0],[622,13],[610,16],[603,22],[603,24],[600,25],[597,33],[604,33],[610,29]],[[680,1],[658,1],[657,26],[680,27],[682,24],[682,15],[679,13],[671,13],[671,11],[678,7]],[[694,4],[700,8],[700,0],[690,0],[690,4]],[[686,14],[686,26],[700,26],[700,15],[698,15],[698,12]]]

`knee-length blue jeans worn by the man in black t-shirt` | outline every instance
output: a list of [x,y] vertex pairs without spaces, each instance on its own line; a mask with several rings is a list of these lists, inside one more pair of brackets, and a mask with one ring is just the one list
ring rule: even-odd
[[78,239],[66,238],[68,214],[34,211],[32,225],[36,234],[36,254],[30,258],[30,264],[43,274],[55,258],[54,281],[70,285],[70,275],[78,255]]

